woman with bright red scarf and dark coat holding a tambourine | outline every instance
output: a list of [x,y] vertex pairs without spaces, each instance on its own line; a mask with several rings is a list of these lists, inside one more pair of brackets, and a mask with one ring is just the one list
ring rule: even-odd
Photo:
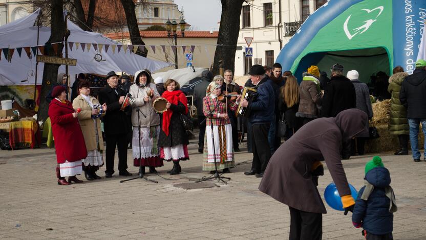
[[168,79],[164,88],[166,91],[161,96],[167,100],[167,110],[163,113],[158,146],[161,159],[173,161],[173,169],[167,173],[175,175],[181,172],[179,161],[189,159],[188,134],[180,121],[180,114],[188,113],[188,102],[175,80]]

